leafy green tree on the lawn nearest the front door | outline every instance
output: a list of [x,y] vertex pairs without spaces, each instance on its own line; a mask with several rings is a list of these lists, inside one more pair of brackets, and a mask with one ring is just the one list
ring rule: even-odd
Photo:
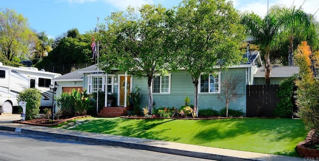
[[134,77],[147,78],[149,114],[153,110],[151,85],[155,74],[174,69],[166,40],[170,34],[167,22],[172,15],[172,10],[161,5],[128,7],[126,13],[112,13],[107,18],[107,30],[101,31],[99,67],[106,72],[116,67]]

